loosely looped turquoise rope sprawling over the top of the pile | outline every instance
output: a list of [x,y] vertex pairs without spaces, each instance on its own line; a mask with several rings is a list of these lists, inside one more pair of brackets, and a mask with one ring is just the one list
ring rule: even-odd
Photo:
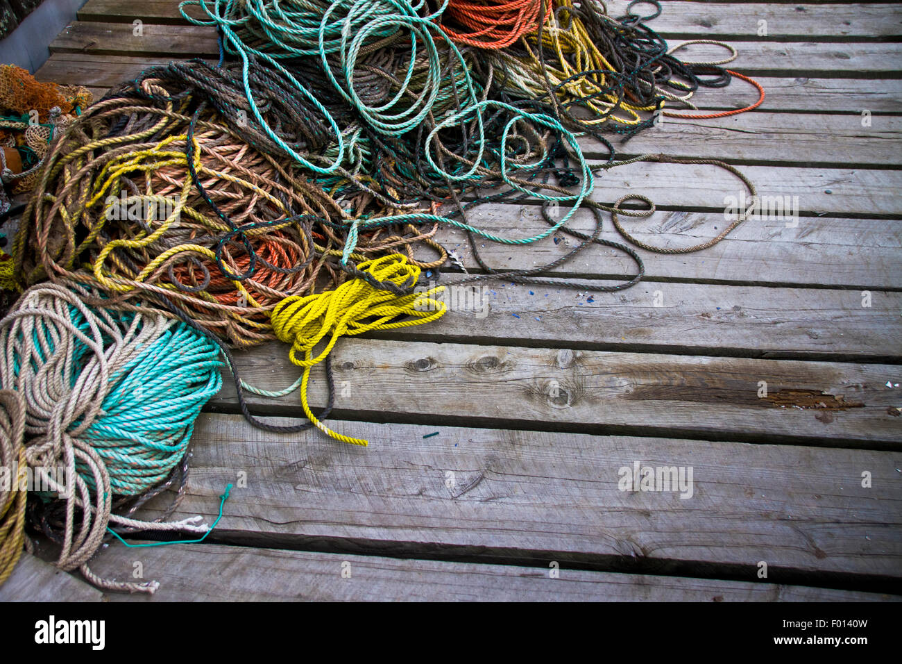
[[[348,229],[348,238],[342,254],[343,265],[347,265],[350,255],[357,246],[360,229],[372,229],[393,223],[438,222],[458,229],[468,230],[481,238],[493,242],[510,245],[525,245],[537,242],[548,238],[557,229],[563,227],[594,189],[592,169],[586,164],[582,149],[578,145],[575,135],[566,130],[556,118],[543,113],[529,113],[498,101],[479,100],[477,87],[470,76],[464,56],[457,49],[454,42],[448,39],[442,29],[435,23],[436,19],[445,11],[446,4],[447,0],[444,0],[434,13],[426,16],[419,15],[419,10],[425,6],[425,2],[421,1],[417,4],[411,4],[407,0],[336,0],[336,2],[328,5],[323,2],[313,2],[312,0],[295,0],[290,3],[279,3],[276,0],[271,0],[270,2],[266,0],[242,0],[241,3],[238,3],[237,0],[213,0],[212,8],[207,6],[207,0],[185,0],[179,5],[179,11],[190,22],[216,25],[226,35],[226,41],[231,49],[230,52],[238,53],[244,62],[245,93],[251,102],[257,120],[261,122],[263,128],[273,140],[279,145],[286,147],[286,149],[287,146],[282,144],[281,140],[272,133],[270,127],[263,123],[262,117],[256,111],[253,95],[246,83],[248,53],[264,58],[274,66],[279,67],[280,70],[283,69],[278,64],[278,59],[301,55],[318,55],[323,70],[335,89],[360,113],[360,116],[364,118],[364,121],[369,126],[387,136],[401,136],[420,126],[428,115],[435,110],[437,99],[443,94],[443,86],[447,87],[450,85],[451,89],[458,89],[459,92],[462,92],[463,98],[459,99],[460,110],[448,113],[445,117],[440,118],[427,137],[426,160],[435,173],[446,177],[452,182],[476,181],[478,180],[480,169],[491,162],[500,165],[502,181],[515,191],[529,193],[542,201],[572,202],[570,210],[555,225],[530,238],[502,238],[462,221],[426,213],[408,213],[380,219],[354,220]],[[207,14],[209,20],[190,17],[186,13],[188,5],[198,5]],[[285,6],[283,7],[283,5]],[[242,41],[236,31],[246,31],[260,38],[264,45],[257,49],[251,48]],[[400,31],[410,33],[410,61],[404,78],[391,99],[382,102],[378,106],[369,107],[354,90],[354,69],[360,51],[364,47],[364,43],[372,42],[374,39],[381,39],[386,35]],[[446,80],[442,80],[441,77],[442,67],[434,34],[441,39],[443,45],[445,43],[448,44],[449,57],[453,61],[453,66],[450,68]],[[410,90],[410,82],[414,75],[418,49],[422,49],[425,53],[428,71],[425,74],[422,89],[415,92]],[[337,57],[337,68],[334,66],[336,62],[329,60],[330,56],[332,58]],[[338,71],[337,74],[333,72],[334,69]],[[284,71],[284,73],[298,86],[299,92],[308,96],[308,98],[312,98],[309,92],[303,89],[296,79],[292,78],[287,71]],[[408,103],[405,101],[408,98],[412,98],[413,102]],[[483,115],[490,109],[502,110],[511,114],[511,117],[502,131],[501,149],[487,154],[488,148],[486,147],[487,141],[485,140]],[[528,169],[535,165],[520,163],[508,154],[508,138],[511,135],[511,131],[517,123],[523,122],[547,127],[563,136],[583,173],[579,192],[562,195],[542,194],[532,192],[511,180],[511,172]],[[446,170],[437,164],[437,154],[433,154],[435,151],[433,145],[437,133],[449,126],[464,125],[465,123],[474,124],[474,145],[478,145],[477,154],[468,168],[464,168],[460,164],[454,164],[450,170]],[[333,150],[327,153],[333,165],[327,169],[312,167],[314,172],[321,175],[328,175],[334,171],[337,164],[342,162],[345,157],[345,138],[341,132],[335,127],[333,128],[336,132],[338,149],[337,153]],[[354,136],[354,141],[356,141],[356,138],[357,136]],[[294,153],[290,152],[290,154]],[[300,159],[299,155],[295,154],[295,156],[303,164],[308,165],[308,162]],[[538,162],[544,161],[547,156],[547,154],[539,155]],[[354,162],[357,169],[364,165],[363,149],[354,149]],[[330,180],[331,178],[327,178],[320,182],[327,185]],[[335,181],[332,180],[332,182]]]

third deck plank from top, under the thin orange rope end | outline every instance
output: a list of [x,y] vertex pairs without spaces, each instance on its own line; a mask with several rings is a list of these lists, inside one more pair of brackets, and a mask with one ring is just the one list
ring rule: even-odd
[[[127,26],[126,26],[127,27]],[[178,27],[178,26],[172,26]],[[36,76],[39,80],[65,80],[84,86],[111,88],[154,64],[162,58],[143,60],[133,56],[87,55],[95,60],[71,61],[72,53],[54,53]],[[902,80],[891,79],[875,86],[872,80],[816,79],[805,77],[760,78],[767,98],[760,110],[817,111],[861,113],[898,113],[902,108]],[[758,91],[741,81],[729,88],[702,88],[693,98],[702,109],[743,108],[758,98]],[[668,105],[670,108],[671,105]],[[692,112],[692,111],[686,111]]]

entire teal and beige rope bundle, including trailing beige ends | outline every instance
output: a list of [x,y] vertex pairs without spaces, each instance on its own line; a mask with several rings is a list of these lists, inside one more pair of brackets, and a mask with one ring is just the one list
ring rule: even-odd
[[[14,389],[23,411],[4,428],[21,435],[23,427],[34,481],[58,497],[32,505],[32,520],[60,545],[57,565],[101,587],[152,592],[152,584],[101,579],[87,561],[109,525],[206,530],[199,517],[130,519],[113,503],[146,494],[186,457],[200,407],[222,385],[221,362],[216,345],[186,325],[152,309],[93,309],[88,295],[74,284],[36,285],[0,323],[0,388]],[[7,412],[15,403],[5,397]]]

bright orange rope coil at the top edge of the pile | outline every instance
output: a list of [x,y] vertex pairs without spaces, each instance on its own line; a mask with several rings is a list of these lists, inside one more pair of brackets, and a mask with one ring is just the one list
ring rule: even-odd
[[443,23],[442,28],[457,43],[480,49],[498,50],[510,46],[547,21],[551,3],[545,3],[541,18],[541,0],[449,0],[443,18],[467,28],[457,32]]

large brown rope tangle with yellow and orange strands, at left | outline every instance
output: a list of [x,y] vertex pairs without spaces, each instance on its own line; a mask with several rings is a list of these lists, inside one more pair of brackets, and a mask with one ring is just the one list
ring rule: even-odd
[[[79,117],[25,212],[33,223],[16,237],[15,268],[26,284],[66,277],[118,302],[168,298],[236,345],[272,338],[261,322],[272,305],[309,290],[322,267],[301,218],[340,210],[199,108],[186,110],[185,101],[114,98]],[[28,245],[36,250],[26,256]]]

